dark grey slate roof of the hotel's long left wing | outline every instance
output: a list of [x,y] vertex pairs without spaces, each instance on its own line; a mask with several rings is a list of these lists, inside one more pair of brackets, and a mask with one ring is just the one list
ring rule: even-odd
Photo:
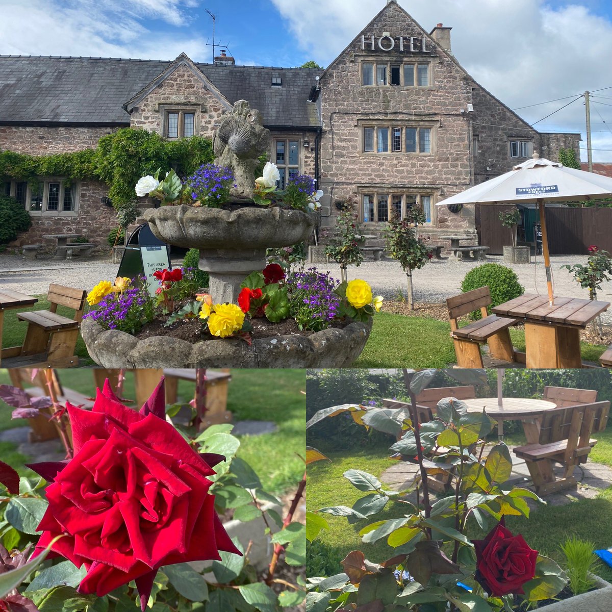
[[[0,124],[125,124],[122,106],[163,72],[170,61],[116,58],[0,56]],[[307,102],[315,69],[196,64],[235,102],[248,100],[264,124],[316,127],[316,105]],[[282,87],[272,87],[272,76]]]

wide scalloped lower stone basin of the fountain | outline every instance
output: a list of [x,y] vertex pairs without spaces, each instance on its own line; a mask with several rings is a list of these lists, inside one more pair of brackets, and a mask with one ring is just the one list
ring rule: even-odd
[[89,356],[104,368],[343,368],[363,351],[372,321],[324,329],[308,337],[207,340],[191,344],[168,336],[138,340],[105,330],[92,319],[81,324]]

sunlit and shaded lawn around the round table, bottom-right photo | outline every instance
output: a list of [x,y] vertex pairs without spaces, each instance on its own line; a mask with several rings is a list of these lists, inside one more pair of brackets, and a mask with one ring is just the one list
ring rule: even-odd
[[[516,439],[515,439],[516,438]],[[591,453],[591,459],[612,466],[612,430],[597,435],[598,444]],[[508,442],[515,444],[521,436]],[[353,506],[363,496],[342,474],[347,469],[356,468],[381,477],[383,472],[394,465],[387,458],[387,444],[367,450],[347,452],[326,452],[331,461],[317,461],[308,466],[307,509],[319,510],[326,506]],[[324,449],[322,452],[325,452]],[[384,483],[384,480],[383,480]],[[387,505],[384,513],[371,517],[371,521],[396,518],[405,511],[401,504]],[[309,563],[313,575],[332,574],[341,571],[339,562],[352,550],[362,550],[367,559],[381,562],[393,556],[393,549],[386,540],[363,543],[359,536],[367,521],[349,524],[344,517],[324,514],[330,529],[323,530],[318,540],[309,545]],[[595,499],[583,499],[565,506],[542,506],[532,511],[531,517],[507,517],[506,524],[515,533],[521,533],[532,548],[561,561],[559,547],[570,535],[594,542],[595,548],[608,548],[612,545],[612,487],[602,491]],[[482,532],[471,526],[468,536],[481,538]],[[612,580],[612,568],[601,565],[597,573],[605,580]],[[310,573],[309,573],[310,575]]]

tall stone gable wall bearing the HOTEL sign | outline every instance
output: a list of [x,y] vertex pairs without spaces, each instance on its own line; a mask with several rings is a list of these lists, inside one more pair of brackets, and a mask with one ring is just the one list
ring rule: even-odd
[[[390,32],[392,37],[402,35],[405,40],[425,36],[430,51],[410,53],[406,51],[407,43],[403,52],[398,50],[398,44],[389,53],[378,48],[362,50],[360,34],[324,74],[321,184],[330,195],[331,213],[323,219],[324,226],[335,223],[335,200],[345,200],[352,194],[360,196],[370,188],[388,189],[390,193],[402,189],[420,192],[431,195],[435,203],[463,190],[471,181],[469,121],[460,112],[472,100],[465,73],[394,2],[362,34],[369,40],[371,35],[378,39],[382,32]],[[430,64],[430,86],[362,86],[362,61],[387,60]],[[370,122],[430,127],[432,151],[363,152],[362,129]],[[368,223],[367,231],[379,233],[383,226],[384,223]],[[436,209],[434,223],[423,228],[423,233],[437,240],[436,234],[449,232],[473,236],[473,228],[474,211],[470,207],[457,214],[441,207]]]

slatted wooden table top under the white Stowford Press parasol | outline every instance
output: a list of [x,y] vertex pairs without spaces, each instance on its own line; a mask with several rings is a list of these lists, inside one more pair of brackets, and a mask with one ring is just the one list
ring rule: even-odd
[[551,323],[569,327],[586,327],[597,315],[610,307],[610,302],[586,300],[578,297],[555,297],[548,304],[548,296],[526,293],[509,302],[491,308],[496,315],[520,319],[527,323]]

